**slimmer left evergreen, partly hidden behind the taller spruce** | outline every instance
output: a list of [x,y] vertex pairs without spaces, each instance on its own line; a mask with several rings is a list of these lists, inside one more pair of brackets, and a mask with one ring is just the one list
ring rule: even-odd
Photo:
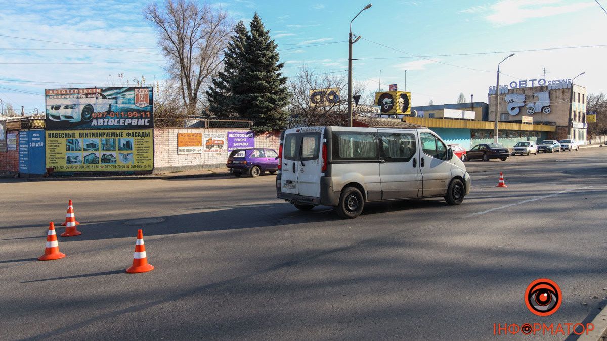
[[242,21],[234,26],[234,35],[223,52],[223,70],[211,79],[211,87],[206,92],[209,112],[220,117],[239,113],[234,105],[233,95],[237,95],[237,79],[245,69],[245,44],[248,30]]

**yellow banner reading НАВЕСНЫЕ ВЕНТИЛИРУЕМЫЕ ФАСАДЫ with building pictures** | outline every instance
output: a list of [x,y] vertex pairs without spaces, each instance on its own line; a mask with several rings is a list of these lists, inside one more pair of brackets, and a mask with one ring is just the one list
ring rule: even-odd
[[152,170],[154,133],[142,130],[47,130],[46,166],[55,172]]

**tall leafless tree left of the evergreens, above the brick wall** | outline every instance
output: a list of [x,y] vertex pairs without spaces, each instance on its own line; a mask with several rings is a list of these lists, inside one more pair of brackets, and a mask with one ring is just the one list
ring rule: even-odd
[[167,71],[178,81],[186,112],[196,113],[231,33],[227,13],[190,0],[165,0],[160,7],[149,4],[143,15],[158,31],[158,46],[169,59]]

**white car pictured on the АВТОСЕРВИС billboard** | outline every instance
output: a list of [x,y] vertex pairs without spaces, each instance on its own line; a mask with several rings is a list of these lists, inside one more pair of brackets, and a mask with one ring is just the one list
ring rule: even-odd
[[[69,122],[88,122],[93,118],[93,112],[112,111],[112,100],[103,93],[97,93],[85,98],[58,98],[47,101],[46,112],[50,120]],[[53,103],[54,102],[54,103]]]

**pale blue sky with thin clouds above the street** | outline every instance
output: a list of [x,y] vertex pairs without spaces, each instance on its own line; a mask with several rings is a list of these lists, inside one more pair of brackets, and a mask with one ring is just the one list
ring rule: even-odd
[[[607,7],[607,0],[599,1]],[[120,85],[118,73],[162,82],[163,56],[141,15],[147,3],[0,0],[0,35],[138,52],[0,36],[0,99],[30,112],[44,109],[46,88]],[[346,70],[348,24],[368,2],[212,3],[236,21],[258,12],[279,45],[285,75],[293,76],[302,66],[319,73]],[[354,45],[354,81],[367,90],[380,87],[379,70],[383,89],[396,83],[402,90],[407,70],[413,105],[453,103],[460,92],[487,101],[506,51],[607,45],[607,13],[594,0],[376,1],[356,18],[353,32],[362,36]],[[545,67],[549,80],[586,72],[575,83],[589,93],[607,92],[606,56],[607,47],[517,52],[502,64],[500,83],[541,78]],[[69,62],[107,64],[62,64]]]

